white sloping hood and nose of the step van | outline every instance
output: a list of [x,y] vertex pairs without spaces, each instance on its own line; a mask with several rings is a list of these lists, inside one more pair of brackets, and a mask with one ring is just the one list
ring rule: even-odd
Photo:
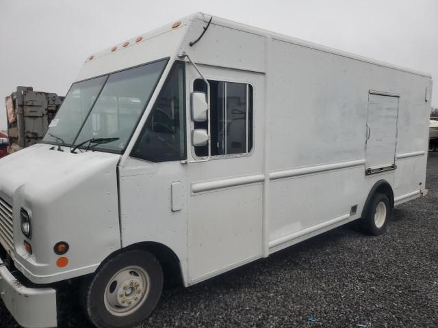
[[[103,258],[120,248],[119,159],[104,152],[71,154],[69,148],[59,152],[40,143],[0,161],[1,198],[12,204],[14,219],[11,256],[31,282],[48,284],[92,273]],[[34,217],[31,255],[23,247],[27,240],[20,228],[23,206]],[[65,268],[55,265],[53,246],[58,241],[70,245],[70,265]]]

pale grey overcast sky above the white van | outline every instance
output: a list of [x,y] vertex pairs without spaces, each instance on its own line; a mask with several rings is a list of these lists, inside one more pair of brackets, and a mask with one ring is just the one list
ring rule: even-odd
[[438,77],[437,0],[0,0],[0,97],[65,96],[88,55],[199,11]]

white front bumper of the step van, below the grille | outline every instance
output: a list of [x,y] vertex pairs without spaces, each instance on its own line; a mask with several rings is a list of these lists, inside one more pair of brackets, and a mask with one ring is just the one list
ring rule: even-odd
[[0,259],[0,295],[16,322],[25,328],[57,326],[56,290],[26,288]]

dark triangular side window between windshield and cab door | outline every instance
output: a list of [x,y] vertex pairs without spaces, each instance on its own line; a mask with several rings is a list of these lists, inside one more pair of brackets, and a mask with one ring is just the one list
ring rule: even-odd
[[176,62],[131,156],[151,162],[185,159],[184,64]]

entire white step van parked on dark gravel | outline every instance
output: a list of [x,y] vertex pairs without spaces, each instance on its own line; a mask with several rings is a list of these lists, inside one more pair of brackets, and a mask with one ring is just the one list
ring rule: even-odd
[[[426,193],[430,75],[207,14],[90,55],[41,143],[0,160],[0,291],[96,327]],[[86,279],[73,279],[77,277]],[[59,302],[58,302],[59,303]]]

